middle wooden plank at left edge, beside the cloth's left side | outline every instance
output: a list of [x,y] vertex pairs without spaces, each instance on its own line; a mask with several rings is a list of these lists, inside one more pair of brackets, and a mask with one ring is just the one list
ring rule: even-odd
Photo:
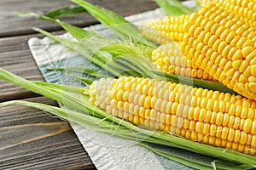
[[[44,81],[27,45],[34,36],[0,38],[0,67],[29,80]],[[0,80],[0,101],[34,96],[37,94]]]

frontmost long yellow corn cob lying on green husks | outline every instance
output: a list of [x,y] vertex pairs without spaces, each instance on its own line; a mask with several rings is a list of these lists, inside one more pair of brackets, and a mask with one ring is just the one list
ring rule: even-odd
[[136,125],[256,155],[256,102],[148,78],[102,78],[90,102]]

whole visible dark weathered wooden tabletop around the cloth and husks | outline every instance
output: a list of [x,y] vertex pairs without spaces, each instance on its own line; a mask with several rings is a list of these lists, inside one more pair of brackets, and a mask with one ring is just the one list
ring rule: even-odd
[[[138,14],[157,5],[153,0],[90,0],[123,16]],[[67,6],[68,0],[0,0],[0,67],[29,80],[44,81],[27,46],[37,26],[62,33],[60,26],[33,18],[20,18],[12,12],[45,12]],[[76,26],[90,26],[96,20],[89,14],[64,18]],[[26,89],[0,80],[0,102],[10,99],[57,105]],[[0,108],[0,169],[96,169],[68,122],[43,111],[23,106]]]

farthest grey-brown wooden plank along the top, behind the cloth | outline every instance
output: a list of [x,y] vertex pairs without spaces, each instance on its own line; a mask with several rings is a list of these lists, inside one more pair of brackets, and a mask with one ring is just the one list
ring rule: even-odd
[[[123,16],[138,14],[157,7],[153,0],[130,0],[129,3],[125,0],[89,0],[88,2],[109,8]],[[74,3],[68,0],[0,0],[0,37],[34,33],[31,29],[32,26],[41,27],[48,31],[60,30],[60,26],[51,22],[20,18],[12,12],[46,12],[49,9],[70,4]],[[96,23],[96,20],[90,14],[67,16],[63,20],[76,26],[89,26]]]

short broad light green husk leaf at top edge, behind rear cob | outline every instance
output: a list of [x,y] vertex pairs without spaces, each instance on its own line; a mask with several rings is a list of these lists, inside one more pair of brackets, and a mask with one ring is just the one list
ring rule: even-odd
[[189,8],[178,0],[154,0],[161,8],[164,8],[167,14],[177,16],[181,14],[191,14],[195,9]]

